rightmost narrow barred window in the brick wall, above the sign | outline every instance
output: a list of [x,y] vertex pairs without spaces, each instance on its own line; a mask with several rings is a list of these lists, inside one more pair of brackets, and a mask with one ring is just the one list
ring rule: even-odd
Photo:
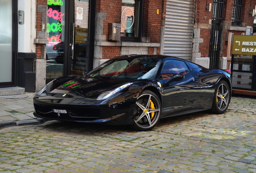
[[243,0],[234,0],[233,12],[232,12],[232,24],[233,25],[241,25],[241,14],[243,7]]

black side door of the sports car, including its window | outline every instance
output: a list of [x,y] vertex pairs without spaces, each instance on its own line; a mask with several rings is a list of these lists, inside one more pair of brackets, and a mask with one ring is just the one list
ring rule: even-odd
[[163,91],[163,114],[193,109],[200,95],[196,74],[182,60],[169,59],[163,64],[160,83]]

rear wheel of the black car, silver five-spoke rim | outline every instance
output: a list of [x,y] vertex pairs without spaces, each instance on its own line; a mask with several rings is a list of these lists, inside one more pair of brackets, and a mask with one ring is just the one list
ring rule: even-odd
[[216,87],[214,97],[212,113],[223,114],[227,111],[231,99],[231,93],[229,85],[224,80],[221,80]]

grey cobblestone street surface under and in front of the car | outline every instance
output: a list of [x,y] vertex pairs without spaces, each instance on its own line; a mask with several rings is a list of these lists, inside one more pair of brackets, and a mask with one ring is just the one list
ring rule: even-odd
[[48,121],[0,130],[0,173],[256,173],[256,99],[223,115],[161,119],[152,131]]

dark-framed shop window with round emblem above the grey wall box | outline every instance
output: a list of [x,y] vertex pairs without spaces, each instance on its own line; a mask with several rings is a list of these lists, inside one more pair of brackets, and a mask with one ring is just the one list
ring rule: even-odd
[[142,11],[143,0],[122,0],[122,41],[141,41]]

